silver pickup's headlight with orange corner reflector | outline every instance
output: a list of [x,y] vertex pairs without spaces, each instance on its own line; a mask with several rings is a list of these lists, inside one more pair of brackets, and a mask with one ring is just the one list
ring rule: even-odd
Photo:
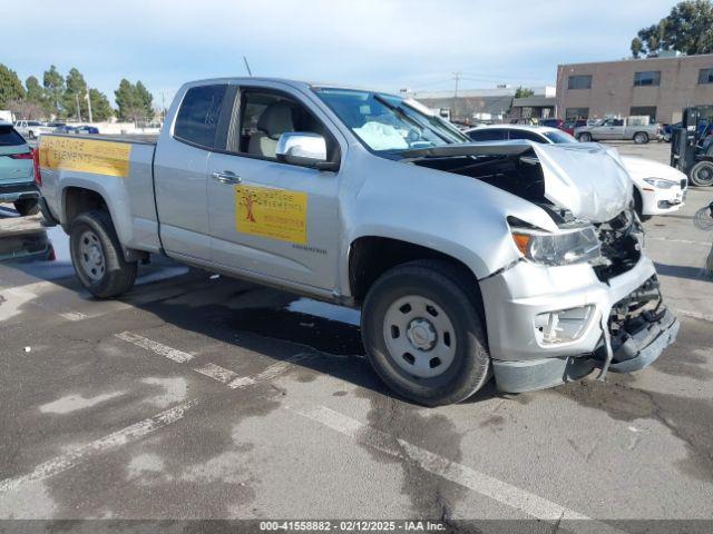
[[529,228],[511,228],[515,245],[528,259],[543,265],[572,265],[602,258],[600,243],[593,226],[547,234]]

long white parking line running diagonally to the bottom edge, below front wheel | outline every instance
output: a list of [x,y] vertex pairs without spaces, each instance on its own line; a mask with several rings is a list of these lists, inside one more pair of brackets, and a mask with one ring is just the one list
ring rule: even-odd
[[[290,407],[289,409],[303,417],[321,423],[345,436],[352,438],[359,436],[361,439],[365,439],[365,442],[362,443],[367,443],[375,449],[398,458],[416,462],[422,469],[429,473],[525,512],[531,517],[548,522],[587,520],[587,530],[596,525],[596,532],[598,533],[622,534],[622,531],[613,528],[605,523],[596,522],[586,515],[582,515],[557,503],[508,484],[507,482],[499,481],[462,464],[451,462],[448,458],[418,447],[404,439],[397,439],[394,443],[394,439],[388,434],[328,407],[320,406],[312,409]],[[370,432],[363,432],[367,429]],[[577,524],[567,524],[566,528],[577,531]],[[585,527],[585,524],[583,523],[582,526]]]

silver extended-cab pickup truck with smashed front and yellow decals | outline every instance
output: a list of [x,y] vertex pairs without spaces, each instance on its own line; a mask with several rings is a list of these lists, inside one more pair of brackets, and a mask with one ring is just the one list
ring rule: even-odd
[[38,158],[97,297],[164,254],[361,307],[374,369],[426,405],[636,370],[678,330],[605,147],[472,144],[398,96],[245,78],[185,85],[155,144],[46,135]]

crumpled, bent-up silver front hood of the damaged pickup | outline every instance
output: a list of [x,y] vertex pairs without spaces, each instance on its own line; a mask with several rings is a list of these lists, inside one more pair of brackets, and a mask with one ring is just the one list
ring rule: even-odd
[[533,149],[545,176],[545,197],[577,218],[604,222],[632,200],[618,152],[596,144],[539,145]]

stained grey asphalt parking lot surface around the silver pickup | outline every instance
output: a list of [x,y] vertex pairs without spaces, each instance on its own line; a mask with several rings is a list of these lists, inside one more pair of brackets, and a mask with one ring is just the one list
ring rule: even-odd
[[712,200],[645,225],[682,322],[651,368],[441,408],[380,384],[358,312],[160,258],[96,300],[37,221],[56,259],[0,264],[0,517],[713,520]]

